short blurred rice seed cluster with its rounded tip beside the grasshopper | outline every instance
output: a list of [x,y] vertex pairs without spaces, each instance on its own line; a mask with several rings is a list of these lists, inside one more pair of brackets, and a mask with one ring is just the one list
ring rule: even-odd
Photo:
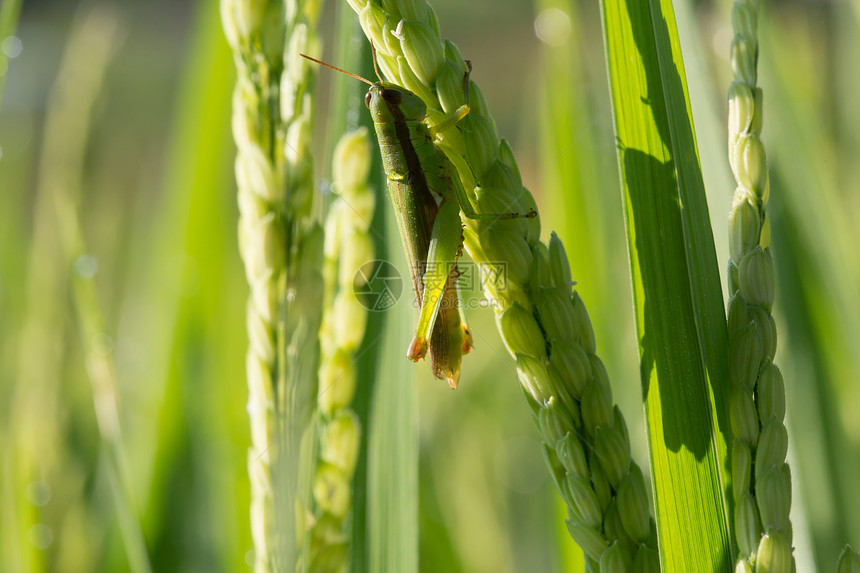
[[374,259],[369,229],[376,198],[367,185],[370,143],[366,128],[341,138],[334,152],[333,172],[338,196],[331,204],[325,229],[317,399],[320,450],[313,486],[317,514],[311,528],[311,572],[343,571],[349,553],[345,522],[361,431],[350,404],[355,395],[355,352],[367,325],[367,309],[356,299],[354,287],[361,286],[356,285],[361,266]]

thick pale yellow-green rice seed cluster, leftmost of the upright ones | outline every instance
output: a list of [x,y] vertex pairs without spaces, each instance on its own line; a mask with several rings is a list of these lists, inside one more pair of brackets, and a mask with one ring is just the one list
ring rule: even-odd
[[256,571],[285,570],[303,536],[299,450],[317,391],[322,229],[311,217],[313,69],[319,2],[222,0],[233,50],[239,246],[251,288],[247,328]]

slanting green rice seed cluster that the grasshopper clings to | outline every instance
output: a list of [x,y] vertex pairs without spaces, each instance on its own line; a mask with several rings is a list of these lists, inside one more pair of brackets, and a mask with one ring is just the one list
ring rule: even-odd
[[[424,99],[436,124],[465,103],[466,64],[440,39],[425,0],[349,0],[377,50],[383,75]],[[469,84],[470,113],[437,137],[479,213],[536,209],[508,144],[498,139],[481,90]],[[540,220],[466,220],[465,243],[495,302],[499,330],[517,361],[544,438],[572,537],[601,571],[659,571],[644,477],[630,458],[582,300],[572,291],[561,241],[539,240]]]

